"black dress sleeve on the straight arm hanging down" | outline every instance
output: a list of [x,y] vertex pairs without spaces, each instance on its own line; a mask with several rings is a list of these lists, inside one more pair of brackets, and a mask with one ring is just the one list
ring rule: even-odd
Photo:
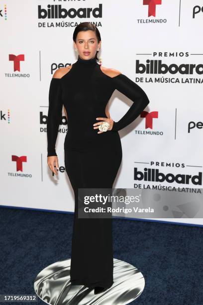
[[55,150],[59,123],[62,115],[61,80],[52,78],[49,88],[49,110],[47,116],[47,156],[57,155]]

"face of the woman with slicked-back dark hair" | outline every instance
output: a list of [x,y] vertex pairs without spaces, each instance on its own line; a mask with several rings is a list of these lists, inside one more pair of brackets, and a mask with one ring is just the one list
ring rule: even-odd
[[91,59],[96,56],[99,51],[101,41],[98,43],[97,36],[94,31],[80,31],[74,41],[74,47],[78,50],[78,54],[82,59]]

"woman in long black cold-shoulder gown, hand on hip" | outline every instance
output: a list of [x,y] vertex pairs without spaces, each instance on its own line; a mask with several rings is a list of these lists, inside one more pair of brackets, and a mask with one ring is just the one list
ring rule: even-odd
[[[75,28],[73,40],[79,52],[78,60],[71,68],[58,69],[50,83],[47,156],[50,169],[57,174],[55,143],[64,105],[68,122],[64,142],[65,168],[75,195],[71,284],[95,288],[97,294],[113,284],[112,219],[78,217],[78,189],[112,188],[122,159],[118,131],[133,122],[149,100],[127,76],[98,63],[101,37],[95,25],[80,23]],[[118,122],[105,113],[115,89],[133,101]],[[107,131],[99,130],[103,122],[109,124]]]

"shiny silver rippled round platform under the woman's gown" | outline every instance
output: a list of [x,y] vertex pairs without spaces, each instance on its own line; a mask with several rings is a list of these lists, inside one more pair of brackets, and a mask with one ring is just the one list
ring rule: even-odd
[[113,259],[113,285],[95,295],[94,289],[70,283],[71,259],[46,267],[34,280],[37,296],[51,305],[124,305],[138,298],[144,290],[144,277],[126,262]]

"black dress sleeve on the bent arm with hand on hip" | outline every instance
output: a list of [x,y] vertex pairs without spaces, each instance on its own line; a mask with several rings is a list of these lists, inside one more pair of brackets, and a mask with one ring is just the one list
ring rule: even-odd
[[113,121],[111,131],[117,132],[129,125],[140,115],[149,104],[149,99],[142,88],[124,74],[118,74],[117,76],[112,77],[112,82],[114,89],[123,93],[133,102],[131,107],[118,122]]

